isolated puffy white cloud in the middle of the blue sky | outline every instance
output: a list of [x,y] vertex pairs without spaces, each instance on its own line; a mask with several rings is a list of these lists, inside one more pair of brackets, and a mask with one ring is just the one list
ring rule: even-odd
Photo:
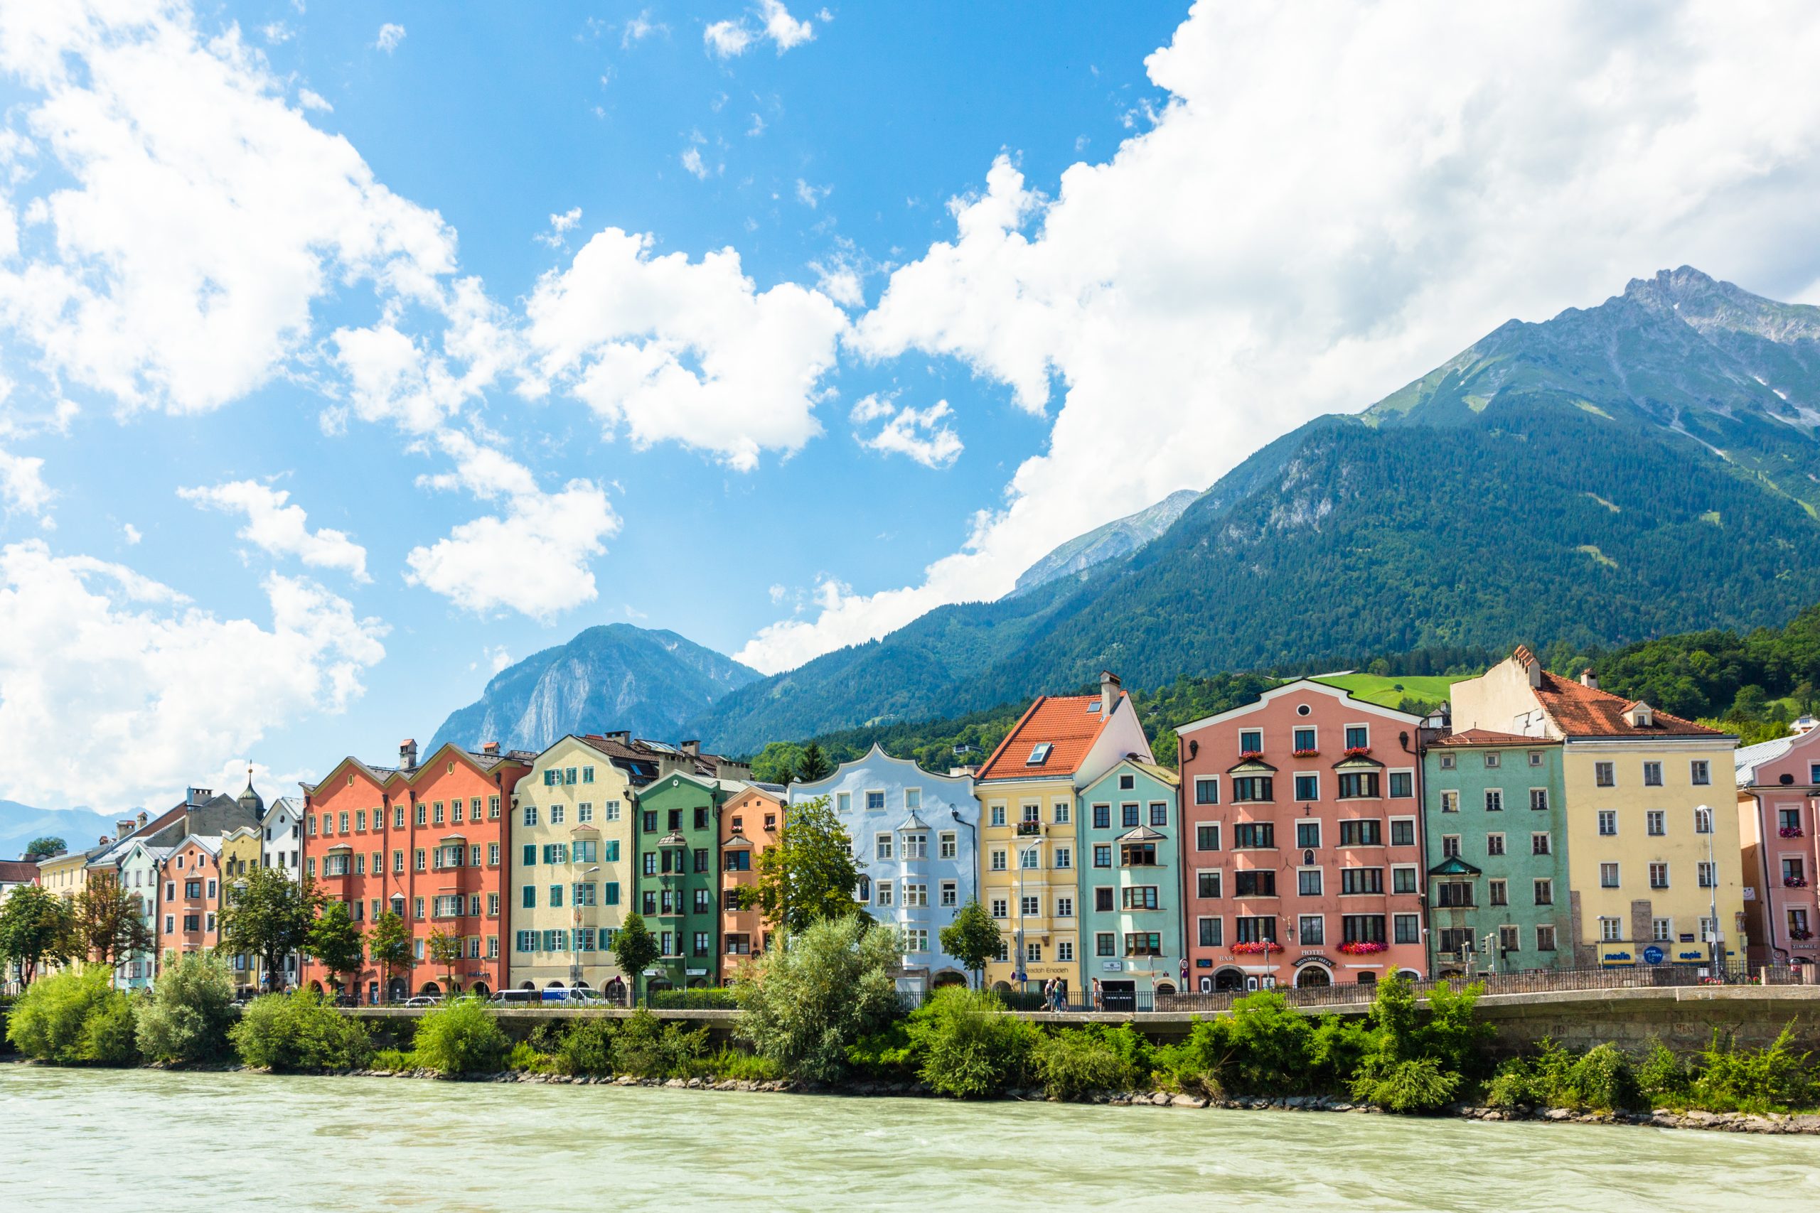
[[821,431],[821,378],[846,315],[792,282],[759,291],[723,249],[699,262],[652,255],[652,240],[597,233],[526,304],[535,378],[584,402],[637,446],[681,442],[737,469],[795,451]]

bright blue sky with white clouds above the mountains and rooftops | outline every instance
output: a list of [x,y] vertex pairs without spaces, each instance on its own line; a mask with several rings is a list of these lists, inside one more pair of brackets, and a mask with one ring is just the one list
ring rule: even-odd
[[0,4],[0,797],[282,789],[597,622],[790,667],[1512,315],[1682,262],[1811,298],[1816,45],[1798,5]]

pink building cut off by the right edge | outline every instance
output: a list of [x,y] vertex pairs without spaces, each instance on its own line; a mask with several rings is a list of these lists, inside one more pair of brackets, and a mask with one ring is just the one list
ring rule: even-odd
[[1734,767],[1751,960],[1820,964],[1820,729],[1745,746]]

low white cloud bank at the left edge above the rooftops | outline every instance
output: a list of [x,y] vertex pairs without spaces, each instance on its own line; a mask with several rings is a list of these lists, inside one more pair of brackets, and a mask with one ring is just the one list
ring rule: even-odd
[[[298,717],[342,711],[384,626],[320,586],[268,575],[271,624],[217,618],[120,564],[0,549],[0,797],[155,804]],[[73,775],[76,773],[76,775]]]

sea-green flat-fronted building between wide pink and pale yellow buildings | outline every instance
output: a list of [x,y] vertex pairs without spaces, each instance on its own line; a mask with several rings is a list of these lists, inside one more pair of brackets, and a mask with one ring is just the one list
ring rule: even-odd
[[1572,967],[1560,742],[1449,733],[1421,775],[1431,975]]

